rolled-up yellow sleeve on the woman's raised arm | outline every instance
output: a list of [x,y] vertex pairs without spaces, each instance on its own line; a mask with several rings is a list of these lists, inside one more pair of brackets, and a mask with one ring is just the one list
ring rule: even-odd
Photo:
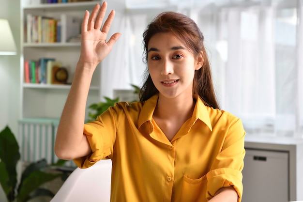
[[121,109],[115,105],[98,116],[96,121],[84,124],[83,134],[89,141],[92,153],[73,159],[79,168],[89,168],[101,159],[110,158],[113,154],[120,115]]

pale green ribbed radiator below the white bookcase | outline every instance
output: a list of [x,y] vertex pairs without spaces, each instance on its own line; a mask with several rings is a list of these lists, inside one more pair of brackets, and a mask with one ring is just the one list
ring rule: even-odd
[[[59,158],[54,153],[58,119],[32,119],[19,120],[18,143],[21,160],[35,162],[45,158],[49,165],[55,164]],[[76,167],[70,160],[64,166]]]

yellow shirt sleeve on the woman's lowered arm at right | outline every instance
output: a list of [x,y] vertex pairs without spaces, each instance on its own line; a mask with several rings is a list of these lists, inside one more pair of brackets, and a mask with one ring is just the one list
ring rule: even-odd
[[222,187],[233,186],[238,193],[238,202],[242,199],[242,169],[245,155],[245,131],[240,119],[230,124],[222,144],[222,149],[207,173],[206,198],[210,200]]

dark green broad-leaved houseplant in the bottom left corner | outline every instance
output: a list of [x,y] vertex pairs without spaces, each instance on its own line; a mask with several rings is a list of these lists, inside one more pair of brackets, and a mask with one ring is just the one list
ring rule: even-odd
[[27,202],[37,196],[53,197],[50,190],[40,186],[62,176],[62,173],[47,172],[49,165],[45,159],[41,159],[26,166],[18,182],[16,167],[19,160],[19,145],[6,126],[0,132],[0,185],[8,202]]

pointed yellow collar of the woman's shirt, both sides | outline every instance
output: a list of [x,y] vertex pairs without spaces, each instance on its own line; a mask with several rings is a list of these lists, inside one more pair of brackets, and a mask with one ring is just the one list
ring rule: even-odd
[[[154,112],[154,109],[156,108],[158,97],[159,94],[155,94],[150,99],[145,101],[139,115],[138,127],[141,127],[141,125],[145,122],[152,122],[152,114]],[[199,119],[200,121],[205,123],[212,131],[211,119],[208,112],[209,107],[204,105],[203,101],[200,99],[199,96],[197,96],[197,94],[194,94],[193,97],[197,100],[197,102],[193,112],[192,123],[195,123],[197,119]],[[153,130],[153,128],[151,128],[151,130]]]

